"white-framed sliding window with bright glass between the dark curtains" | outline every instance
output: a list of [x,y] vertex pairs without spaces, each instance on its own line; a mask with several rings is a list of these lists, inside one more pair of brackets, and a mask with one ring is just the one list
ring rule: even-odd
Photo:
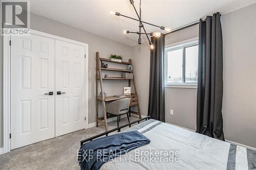
[[198,41],[165,47],[165,85],[197,86]]

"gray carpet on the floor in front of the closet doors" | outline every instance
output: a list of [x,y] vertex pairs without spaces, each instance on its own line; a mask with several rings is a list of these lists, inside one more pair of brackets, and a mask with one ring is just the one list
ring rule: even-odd
[[[138,117],[132,116],[131,122]],[[122,118],[120,126],[127,124]],[[117,127],[116,121],[108,123],[109,129]],[[104,127],[93,127],[55,137],[0,155],[0,169],[79,169],[77,150],[80,140],[104,132]]]

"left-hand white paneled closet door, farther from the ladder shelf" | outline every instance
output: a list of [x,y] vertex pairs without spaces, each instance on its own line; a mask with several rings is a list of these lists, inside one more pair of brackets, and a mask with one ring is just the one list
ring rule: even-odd
[[33,34],[11,37],[11,149],[55,136],[54,43]]

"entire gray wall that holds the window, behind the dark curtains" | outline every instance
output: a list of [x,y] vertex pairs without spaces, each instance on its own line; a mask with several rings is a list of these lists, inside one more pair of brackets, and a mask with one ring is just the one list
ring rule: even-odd
[[[256,148],[256,4],[221,16],[223,30],[223,121],[226,140]],[[172,44],[198,36],[198,25],[165,38]],[[134,58],[148,63],[150,50],[133,49]],[[142,48],[142,47],[141,47]],[[136,51],[137,50],[137,51]],[[138,64],[138,63],[137,63]],[[140,77],[148,78],[149,65],[135,65]],[[138,71],[138,69],[140,71]],[[142,82],[143,81],[143,82]],[[148,80],[139,80],[139,89]],[[144,96],[141,96],[144,95]],[[148,99],[148,89],[139,96]],[[196,130],[197,89],[165,88],[166,122]],[[140,103],[147,104],[147,101]],[[146,105],[147,108],[147,105]],[[174,110],[174,115],[169,114]]]

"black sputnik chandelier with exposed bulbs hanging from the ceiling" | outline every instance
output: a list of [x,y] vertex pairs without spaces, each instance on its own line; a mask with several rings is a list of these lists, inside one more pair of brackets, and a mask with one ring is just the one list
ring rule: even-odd
[[[141,35],[144,34],[146,35],[147,37],[147,40],[148,40],[148,43],[150,44],[150,47],[151,49],[154,49],[154,45],[152,44],[150,38],[148,38],[148,35],[150,36],[154,36],[156,38],[159,38],[161,36],[161,32],[159,31],[156,31],[156,32],[152,32],[152,33],[147,33],[145,28],[144,28],[144,25],[143,23],[146,23],[147,25],[151,25],[151,26],[154,26],[154,27],[158,27],[160,28],[161,30],[164,30],[166,32],[170,32],[170,29],[169,28],[166,28],[166,27],[163,27],[163,26],[157,26],[157,25],[154,25],[152,23],[148,23],[148,22],[145,22],[145,21],[142,21],[141,20],[141,0],[140,0],[140,11],[139,11],[139,14],[134,6],[134,1],[133,0],[129,0],[131,5],[133,6],[135,12],[136,12],[136,15],[138,16],[138,19],[136,18],[132,18],[130,16],[125,16],[123,14],[120,14],[119,12],[113,12],[113,11],[110,11],[110,14],[112,15],[117,15],[117,16],[123,16],[123,17],[126,17],[126,18],[130,18],[130,19],[133,19],[133,20],[137,20],[139,21],[139,31],[138,32],[132,32],[132,31],[127,31],[127,30],[124,30],[123,33],[124,34],[129,34],[129,33],[134,33],[134,34],[138,34],[139,35],[139,39],[138,39],[138,43],[141,44]],[[141,32],[141,28],[143,29],[143,32]]]

